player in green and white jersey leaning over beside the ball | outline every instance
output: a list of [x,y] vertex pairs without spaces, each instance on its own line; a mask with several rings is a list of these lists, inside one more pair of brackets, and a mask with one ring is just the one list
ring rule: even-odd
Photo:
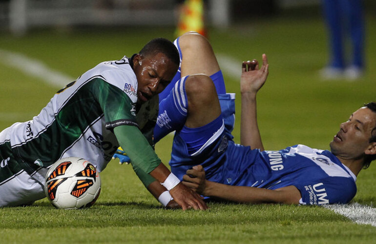
[[206,209],[202,198],[161,163],[143,135],[154,128],[149,119],[157,115],[157,94],[178,66],[173,43],[152,40],[130,59],[98,64],[58,91],[33,120],[4,129],[0,133],[0,206],[44,198],[44,176],[58,159],[82,157],[100,172],[121,145],[127,148],[133,167],[163,183],[183,209]]

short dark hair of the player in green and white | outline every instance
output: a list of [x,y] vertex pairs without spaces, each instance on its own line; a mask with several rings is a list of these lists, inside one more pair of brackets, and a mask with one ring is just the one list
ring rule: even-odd
[[140,54],[145,57],[151,57],[157,53],[165,54],[169,60],[179,66],[180,58],[178,49],[171,41],[165,38],[155,38],[147,42],[140,51]]

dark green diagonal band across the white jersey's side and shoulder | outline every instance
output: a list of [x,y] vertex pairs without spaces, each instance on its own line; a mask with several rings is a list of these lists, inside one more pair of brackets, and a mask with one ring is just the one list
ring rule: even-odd
[[[39,167],[39,165],[30,162],[39,160],[43,166],[56,162],[85,132],[90,132],[91,125],[101,118],[104,118],[105,121],[117,118],[135,120],[130,112],[128,112],[129,114],[121,112],[131,109],[121,107],[116,110],[111,108],[119,107],[120,104],[124,106],[128,104],[129,107],[132,102],[123,91],[102,79],[94,78],[90,82],[86,82],[69,98],[60,108],[53,122],[43,130],[43,133],[27,143],[14,147],[17,153],[23,156],[24,163],[21,164],[28,173],[32,173]],[[114,100],[115,102],[113,102]],[[109,112],[104,113],[103,110]]]

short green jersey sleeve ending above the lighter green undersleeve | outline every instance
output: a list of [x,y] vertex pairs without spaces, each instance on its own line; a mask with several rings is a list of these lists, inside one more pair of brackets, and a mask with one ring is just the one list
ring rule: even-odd
[[135,104],[125,92],[99,78],[92,82],[95,82],[93,94],[103,110],[107,129],[119,125],[138,126]]

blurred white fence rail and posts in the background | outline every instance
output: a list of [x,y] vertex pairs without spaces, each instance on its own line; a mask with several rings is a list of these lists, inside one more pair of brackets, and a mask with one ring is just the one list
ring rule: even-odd
[[[230,0],[209,0],[207,20],[218,27],[230,23]],[[10,0],[9,29],[24,34],[33,26],[174,25],[175,0]]]

